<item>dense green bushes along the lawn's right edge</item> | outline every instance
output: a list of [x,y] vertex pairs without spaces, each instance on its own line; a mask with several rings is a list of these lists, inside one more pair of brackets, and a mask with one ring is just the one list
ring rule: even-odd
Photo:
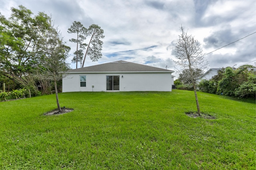
[[227,67],[218,70],[218,74],[210,80],[202,80],[199,89],[202,92],[223,94],[239,98],[255,98],[256,96],[256,72],[248,70],[250,65],[237,69]]

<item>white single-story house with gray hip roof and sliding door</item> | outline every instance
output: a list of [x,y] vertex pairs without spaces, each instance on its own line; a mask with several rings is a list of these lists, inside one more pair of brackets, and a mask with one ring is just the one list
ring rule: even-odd
[[62,92],[172,91],[172,70],[116,61],[68,70]]

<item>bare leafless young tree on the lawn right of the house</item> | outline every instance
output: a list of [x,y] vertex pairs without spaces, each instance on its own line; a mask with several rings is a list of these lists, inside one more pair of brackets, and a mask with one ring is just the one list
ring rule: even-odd
[[204,60],[204,54],[200,49],[200,43],[194,39],[191,35],[188,35],[187,32],[184,32],[183,27],[180,27],[182,34],[179,35],[179,39],[176,43],[174,53],[176,56],[175,64],[178,64],[182,69],[188,69],[190,80],[193,84],[194,94],[196,98],[196,106],[198,115],[200,115],[200,107],[198,102],[198,97],[196,94],[196,80],[197,77],[194,75],[195,69],[204,70],[207,67],[208,63]]

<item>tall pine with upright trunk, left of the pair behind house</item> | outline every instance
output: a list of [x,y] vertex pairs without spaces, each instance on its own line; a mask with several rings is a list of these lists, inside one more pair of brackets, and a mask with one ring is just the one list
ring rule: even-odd
[[[80,45],[80,48],[85,48],[87,46],[86,43],[83,43],[83,41],[86,39],[86,28],[84,25],[79,22],[79,21],[74,21],[73,25],[70,26],[68,29],[68,33],[76,33],[76,39],[72,38],[69,41],[76,43],[76,68],[77,68],[77,63],[80,61],[80,53],[82,50],[78,50],[78,45]],[[74,59],[73,59],[74,60]],[[72,60],[72,62],[74,62]],[[82,63],[82,62],[80,62]]]

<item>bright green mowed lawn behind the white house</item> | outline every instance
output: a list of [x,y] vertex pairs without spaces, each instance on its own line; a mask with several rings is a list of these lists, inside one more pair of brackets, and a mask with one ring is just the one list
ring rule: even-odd
[[255,169],[255,104],[198,92],[72,92],[0,102],[0,169]]

